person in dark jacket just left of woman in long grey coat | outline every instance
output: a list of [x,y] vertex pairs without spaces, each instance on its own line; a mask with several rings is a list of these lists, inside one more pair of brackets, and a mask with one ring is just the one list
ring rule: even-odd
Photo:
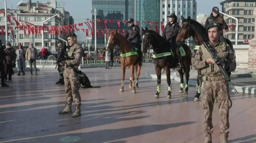
[[6,45],[5,52],[5,58],[6,58],[6,73],[5,73],[5,82],[7,81],[7,75],[9,82],[12,81],[12,73],[13,73],[13,65],[16,61],[16,54],[11,46],[10,43]]

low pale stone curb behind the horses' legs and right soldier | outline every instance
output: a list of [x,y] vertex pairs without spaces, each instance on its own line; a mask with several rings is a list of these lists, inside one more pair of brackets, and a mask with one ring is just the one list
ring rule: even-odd
[[[149,71],[146,72],[145,75],[146,78],[153,78],[156,79],[157,76],[156,74],[149,74]],[[161,79],[166,79],[166,76],[161,77]],[[180,76],[177,75],[177,72],[174,72],[174,74],[171,74],[171,80],[175,80],[177,82],[180,82],[181,78]],[[197,86],[197,79],[196,78],[192,78],[189,80],[189,85],[190,86]],[[186,83],[186,79],[184,77],[184,83]],[[237,92],[240,93],[251,93],[251,94],[255,94],[256,93],[256,85],[252,85],[252,86],[234,86],[235,89],[237,90]],[[231,85],[229,85],[229,91],[234,92],[234,89],[232,88]]]

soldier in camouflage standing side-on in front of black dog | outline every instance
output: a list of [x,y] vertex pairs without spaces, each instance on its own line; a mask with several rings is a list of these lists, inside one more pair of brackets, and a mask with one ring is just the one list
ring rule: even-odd
[[71,48],[68,50],[68,59],[61,61],[61,65],[64,66],[64,83],[67,102],[63,111],[59,114],[72,113],[71,104],[73,97],[75,98],[75,112],[72,115],[73,118],[81,116],[81,97],[79,93],[79,76],[78,66],[84,53],[83,48],[77,44],[76,35],[70,33],[67,35],[67,40]]

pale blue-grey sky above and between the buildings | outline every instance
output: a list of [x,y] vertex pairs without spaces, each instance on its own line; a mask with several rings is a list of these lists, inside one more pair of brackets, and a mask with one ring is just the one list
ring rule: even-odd
[[[11,5],[13,5],[13,9],[17,8],[17,3],[20,0],[7,0],[7,8],[11,9]],[[32,0],[32,2],[47,2],[50,0]],[[91,18],[91,0],[59,0],[61,2],[65,2],[64,9],[68,11],[71,16],[74,18],[74,23],[81,23],[86,21],[86,18]],[[221,5],[219,4],[223,0],[196,0],[197,3],[197,14],[203,13],[209,15],[212,7],[217,6],[221,10]],[[23,0],[22,3],[26,3],[27,0]],[[57,0],[58,2],[58,0]],[[58,4],[58,3],[57,3]],[[0,9],[4,8],[4,0],[0,0]],[[84,37],[84,36],[83,36]],[[85,37],[84,37],[85,39]]]

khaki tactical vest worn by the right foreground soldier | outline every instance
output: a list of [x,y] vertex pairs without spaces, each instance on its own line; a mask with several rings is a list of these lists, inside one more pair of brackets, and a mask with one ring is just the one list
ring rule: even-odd
[[[219,58],[220,63],[225,63],[227,60],[227,54],[228,51],[226,50],[227,44],[225,42],[220,43],[219,45],[216,45],[214,48],[214,51],[217,51],[215,53],[217,55],[217,58]],[[207,58],[212,58],[211,54],[208,52],[208,50],[204,47],[204,45],[201,46],[202,51],[202,60],[206,60]],[[213,51],[213,52],[214,52]],[[206,68],[203,68],[201,70],[201,74],[216,74],[220,72],[218,66],[216,64],[210,63]]]

